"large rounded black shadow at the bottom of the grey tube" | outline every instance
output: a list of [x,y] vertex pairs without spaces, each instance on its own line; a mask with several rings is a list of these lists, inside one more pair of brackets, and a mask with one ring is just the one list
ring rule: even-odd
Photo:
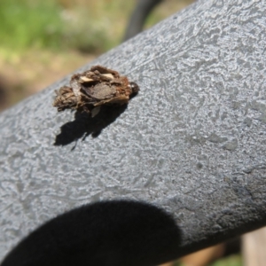
[[174,218],[146,202],[110,200],[77,207],[22,239],[2,266],[152,266],[178,256]]

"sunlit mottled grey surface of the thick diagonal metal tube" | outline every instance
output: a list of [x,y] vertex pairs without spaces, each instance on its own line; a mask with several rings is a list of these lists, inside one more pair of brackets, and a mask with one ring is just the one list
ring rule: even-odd
[[183,235],[176,254],[266,224],[265,13],[263,1],[198,1],[82,67],[140,87],[106,124],[51,106],[69,76],[1,113],[0,257],[93,200],[164,207]]

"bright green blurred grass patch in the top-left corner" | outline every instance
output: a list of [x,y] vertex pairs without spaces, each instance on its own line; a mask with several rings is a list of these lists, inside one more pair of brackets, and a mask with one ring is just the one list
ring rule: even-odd
[[23,51],[29,47],[59,47],[63,23],[54,1],[1,0],[1,47]]

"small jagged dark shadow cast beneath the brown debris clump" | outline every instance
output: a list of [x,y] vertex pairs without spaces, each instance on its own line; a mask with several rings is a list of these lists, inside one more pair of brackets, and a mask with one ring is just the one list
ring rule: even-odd
[[74,121],[67,122],[61,126],[61,133],[56,137],[54,145],[68,145],[78,139],[86,137],[98,137],[103,129],[113,123],[117,117],[127,109],[123,106],[101,106],[95,117],[88,113],[74,114]]

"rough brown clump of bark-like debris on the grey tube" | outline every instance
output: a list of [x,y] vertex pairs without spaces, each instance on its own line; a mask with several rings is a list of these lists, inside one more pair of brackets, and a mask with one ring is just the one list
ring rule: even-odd
[[95,116],[102,105],[125,105],[129,98],[137,94],[139,88],[135,82],[129,82],[126,76],[105,66],[92,66],[82,74],[74,74],[70,87],[63,86],[55,90],[53,106],[58,111],[74,109]]

